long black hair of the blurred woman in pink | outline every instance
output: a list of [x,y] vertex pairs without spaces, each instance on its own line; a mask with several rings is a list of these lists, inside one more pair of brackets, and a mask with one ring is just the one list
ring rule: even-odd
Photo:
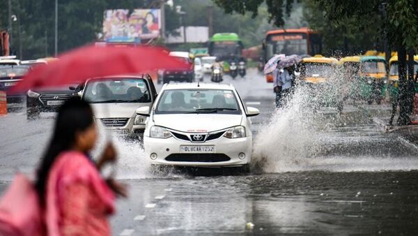
[[61,152],[67,151],[75,145],[77,132],[85,131],[93,124],[93,110],[91,106],[79,98],[71,98],[59,108],[56,116],[54,133],[49,146],[42,158],[37,173],[36,191],[41,205],[45,205],[45,190],[49,171]]

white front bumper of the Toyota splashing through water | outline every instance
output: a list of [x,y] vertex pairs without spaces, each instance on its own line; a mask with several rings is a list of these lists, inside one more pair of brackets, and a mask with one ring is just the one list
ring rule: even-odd
[[[212,154],[182,154],[180,146],[215,146],[215,153]],[[217,140],[210,140],[203,143],[194,143],[186,140],[178,140],[171,137],[150,138],[144,136],[144,149],[146,158],[149,158],[151,164],[154,165],[178,165],[178,166],[196,166],[196,167],[224,167],[224,166],[241,166],[251,162],[251,146],[252,137],[245,138],[225,138],[221,137]],[[157,154],[157,158],[152,160],[151,154]],[[244,153],[245,158],[238,158],[238,154]],[[173,156],[183,156],[182,161],[173,161]],[[229,160],[219,161],[218,156],[226,156]],[[187,161],[187,158],[190,161]],[[204,160],[203,160],[203,159]],[[171,160],[168,161],[167,159]]]

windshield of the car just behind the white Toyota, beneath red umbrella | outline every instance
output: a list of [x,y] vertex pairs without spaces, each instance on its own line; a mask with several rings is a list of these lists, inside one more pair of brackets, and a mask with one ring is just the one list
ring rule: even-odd
[[106,78],[90,80],[84,89],[89,103],[150,103],[146,80],[141,78]]

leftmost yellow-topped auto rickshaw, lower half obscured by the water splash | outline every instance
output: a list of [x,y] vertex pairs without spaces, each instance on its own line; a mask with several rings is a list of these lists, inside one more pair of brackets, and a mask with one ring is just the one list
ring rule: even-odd
[[337,59],[321,55],[302,59],[298,83],[309,92],[309,106],[329,106],[339,112],[343,110],[343,93],[339,89],[341,86],[336,84],[341,79],[336,73],[337,66]]

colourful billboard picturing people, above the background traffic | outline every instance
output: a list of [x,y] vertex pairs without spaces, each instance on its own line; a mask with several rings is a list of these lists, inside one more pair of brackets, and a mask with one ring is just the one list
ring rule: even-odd
[[105,10],[103,36],[106,41],[139,42],[158,38],[161,29],[160,9]]

